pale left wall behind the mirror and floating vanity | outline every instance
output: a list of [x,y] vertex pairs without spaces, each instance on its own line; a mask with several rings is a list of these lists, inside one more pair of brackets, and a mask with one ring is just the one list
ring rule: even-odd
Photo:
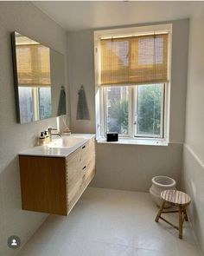
[[32,147],[41,130],[56,127],[56,118],[17,124],[10,33],[22,35],[67,55],[67,34],[29,2],[0,2],[0,255],[16,253],[7,239],[16,234],[24,244],[47,214],[22,211],[17,154]]

